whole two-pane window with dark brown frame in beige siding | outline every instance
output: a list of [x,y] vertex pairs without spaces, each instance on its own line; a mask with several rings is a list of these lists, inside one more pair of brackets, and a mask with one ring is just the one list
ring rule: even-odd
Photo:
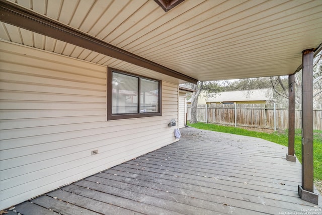
[[107,119],[160,116],[160,81],[108,68]]

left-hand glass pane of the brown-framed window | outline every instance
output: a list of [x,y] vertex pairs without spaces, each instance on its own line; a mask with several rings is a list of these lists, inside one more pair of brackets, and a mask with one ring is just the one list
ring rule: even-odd
[[137,77],[113,73],[112,89],[112,114],[137,113]]

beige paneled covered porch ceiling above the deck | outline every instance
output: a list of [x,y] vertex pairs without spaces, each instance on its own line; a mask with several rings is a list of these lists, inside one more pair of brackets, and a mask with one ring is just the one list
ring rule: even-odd
[[[3,40],[160,80],[175,77],[178,84],[290,75],[301,64],[302,50],[322,42],[320,0],[186,0],[168,12],[152,0],[0,3]],[[79,32],[98,42],[83,46],[54,30],[32,29],[29,21],[11,23],[8,3],[40,15],[31,23],[56,23],[68,27],[71,38]],[[132,61],[92,48],[101,42]]]

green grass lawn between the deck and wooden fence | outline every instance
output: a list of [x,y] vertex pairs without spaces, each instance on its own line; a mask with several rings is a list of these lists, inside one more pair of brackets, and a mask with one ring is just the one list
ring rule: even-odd
[[[266,139],[272,142],[276,142],[277,144],[288,146],[288,131],[275,131],[273,133],[266,133],[266,132],[257,132],[246,130],[242,128],[235,128],[229,126],[221,126],[215,124],[206,124],[206,123],[195,123],[195,124],[188,124],[189,126],[200,128],[204,130],[213,130],[219,131],[224,133],[233,133],[239,134],[244,136],[254,136],[259,137],[262,139]],[[322,180],[322,131],[321,130],[314,130],[313,135],[313,153],[314,153],[314,180],[321,181]],[[295,155],[297,159],[301,162],[302,155],[301,155],[301,129],[295,130]]]

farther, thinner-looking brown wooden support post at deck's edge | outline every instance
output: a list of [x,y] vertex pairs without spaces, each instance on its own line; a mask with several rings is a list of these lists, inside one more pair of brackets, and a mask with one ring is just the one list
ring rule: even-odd
[[295,85],[294,74],[288,76],[288,153],[286,160],[296,162],[294,156],[295,136]]

